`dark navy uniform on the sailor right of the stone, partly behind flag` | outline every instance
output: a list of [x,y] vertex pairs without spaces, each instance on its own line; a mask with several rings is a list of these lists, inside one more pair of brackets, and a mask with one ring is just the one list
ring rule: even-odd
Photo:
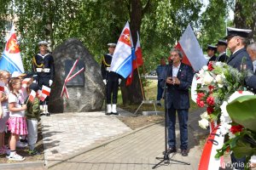
[[113,55],[112,54],[105,54],[102,57],[102,78],[106,79],[107,81],[107,104],[111,105],[111,95],[112,96],[112,104],[117,103],[117,95],[119,90],[119,74],[113,71],[109,71],[111,61]]

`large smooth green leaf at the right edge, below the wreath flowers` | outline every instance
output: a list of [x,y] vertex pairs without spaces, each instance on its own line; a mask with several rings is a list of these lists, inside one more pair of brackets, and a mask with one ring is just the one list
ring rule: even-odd
[[241,124],[254,132],[256,132],[256,96],[241,96],[229,105],[227,111],[234,122]]

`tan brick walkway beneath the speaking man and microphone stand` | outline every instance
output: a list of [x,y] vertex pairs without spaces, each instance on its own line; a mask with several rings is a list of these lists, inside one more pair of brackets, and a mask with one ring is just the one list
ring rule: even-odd
[[[197,111],[191,113],[189,117],[189,156],[181,156],[180,150],[178,150],[177,154],[171,155],[172,159],[186,161],[190,165],[171,161],[170,164],[161,164],[156,169],[197,169],[201,156],[201,146],[198,143],[199,138],[207,133],[207,131],[203,131],[198,127],[197,119],[199,114],[200,111]],[[50,169],[152,169],[159,162],[155,157],[163,156],[162,151],[165,149],[164,132],[163,123],[144,127],[126,134],[122,138],[102,144],[94,150],[85,151],[79,154],[79,156],[74,156],[61,164],[50,167]],[[177,139],[177,144],[179,145],[179,139]]]

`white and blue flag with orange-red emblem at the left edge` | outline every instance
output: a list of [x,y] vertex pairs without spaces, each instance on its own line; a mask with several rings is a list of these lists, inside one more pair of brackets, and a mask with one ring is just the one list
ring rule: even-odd
[[10,31],[2,58],[0,59],[0,68],[1,70],[9,71],[10,73],[13,73],[14,71],[18,71],[20,73],[24,72],[14,26]]

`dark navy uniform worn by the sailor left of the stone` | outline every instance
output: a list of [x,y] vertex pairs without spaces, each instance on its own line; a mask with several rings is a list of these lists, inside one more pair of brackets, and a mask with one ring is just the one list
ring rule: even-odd
[[[36,54],[32,59],[32,69],[38,75],[36,81],[40,88],[44,86],[49,87],[49,80],[54,79],[55,65],[51,54]],[[48,98],[45,99],[48,101]]]

